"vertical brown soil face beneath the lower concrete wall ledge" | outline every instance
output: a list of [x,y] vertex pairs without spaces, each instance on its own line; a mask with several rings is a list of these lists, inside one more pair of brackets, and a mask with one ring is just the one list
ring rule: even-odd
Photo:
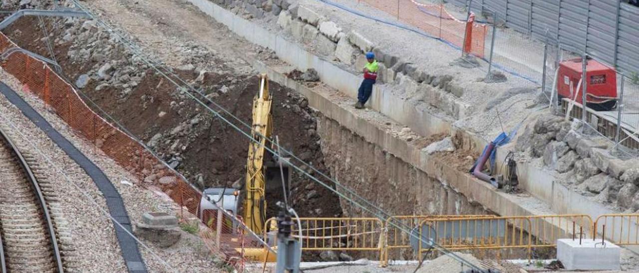
[[[393,215],[489,214],[447,183],[430,177],[410,163],[327,117],[318,117],[324,163],[337,181]],[[366,216],[341,198],[345,215]]]

